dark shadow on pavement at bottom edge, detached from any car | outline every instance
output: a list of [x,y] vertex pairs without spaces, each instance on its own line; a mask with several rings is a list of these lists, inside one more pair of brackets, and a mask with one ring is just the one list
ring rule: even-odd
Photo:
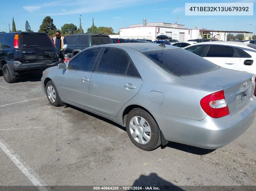
[[[137,180],[134,181],[132,186],[143,186],[152,187],[151,190],[161,190],[161,191],[184,191],[178,186],[175,186],[171,182],[162,179],[156,173],[151,173],[147,175],[141,175]],[[153,188],[155,187],[155,189]],[[143,190],[142,188],[142,190]],[[159,188],[159,189],[157,189]],[[149,188],[150,189],[150,188]],[[148,189],[147,189],[148,190]]]

